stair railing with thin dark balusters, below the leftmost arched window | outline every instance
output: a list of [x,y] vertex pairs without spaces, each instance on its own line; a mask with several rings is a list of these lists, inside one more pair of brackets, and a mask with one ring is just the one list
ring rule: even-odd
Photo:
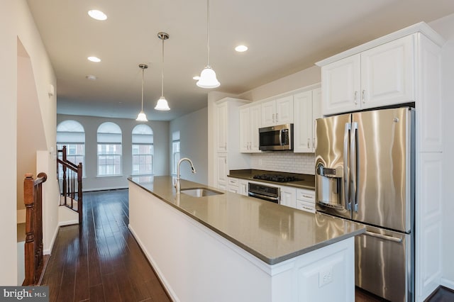
[[[66,206],[79,214],[79,224],[82,224],[82,162],[74,164],[67,160],[66,146],[58,150],[62,159],[57,157],[57,179],[61,182],[60,206]],[[62,178],[60,179],[60,166],[62,167]],[[75,201],[75,202],[74,202]]]

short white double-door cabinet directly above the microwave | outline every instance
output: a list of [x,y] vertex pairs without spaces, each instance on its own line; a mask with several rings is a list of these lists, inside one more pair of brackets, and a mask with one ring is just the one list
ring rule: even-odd
[[293,123],[293,96],[262,103],[262,127]]

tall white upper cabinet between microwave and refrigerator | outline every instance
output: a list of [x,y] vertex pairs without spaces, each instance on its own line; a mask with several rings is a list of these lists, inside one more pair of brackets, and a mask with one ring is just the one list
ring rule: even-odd
[[294,152],[315,152],[317,118],[321,118],[321,89],[294,94]]

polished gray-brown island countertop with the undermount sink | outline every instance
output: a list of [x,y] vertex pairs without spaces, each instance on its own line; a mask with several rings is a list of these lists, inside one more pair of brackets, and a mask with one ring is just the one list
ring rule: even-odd
[[177,195],[170,176],[129,177],[128,180],[267,264],[277,264],[365,231],[364,225],[359,223],[300,211],[184,179],[182,189],[205,187],[223,194]]

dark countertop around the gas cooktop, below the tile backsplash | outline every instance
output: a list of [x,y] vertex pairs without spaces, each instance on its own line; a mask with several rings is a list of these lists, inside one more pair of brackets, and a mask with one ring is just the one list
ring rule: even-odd
[[[282,174],[286,176],[292,176],[299,179],[298,181],[287,181],[287,182],[275,182],[275,181],[266,181],[263,179],[254,179],[254,175],[258,174]],[[258,170],[258,169],[240,169],[240,170],[230,170],[228,177],[234,177],[239,179],[247,179],[253,181],[266,182],[268,184],[275,184],[279,186],[293,186],[294,188],[299,189],[309,189],[315,190],[315,176],[311,174],[297,174],[297,173],[287,173],[287,172],[275,172],[267,170]]]

